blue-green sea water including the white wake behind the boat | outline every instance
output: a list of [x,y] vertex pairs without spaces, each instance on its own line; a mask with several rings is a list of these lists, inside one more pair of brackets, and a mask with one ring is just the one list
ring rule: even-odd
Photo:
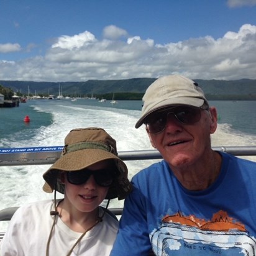
[[[219,113],[218,128],[212,136],[213,146],[256,145],[256,101],[210,101]],[[39,99],[19,107],[0,108],[0,148],[45,147],[63,145],[66,134],[80,127],[102,127],[117,140],[118,151],[152,149],[144,127],[135,129],[142,101],[109,101],[93,99]],[[23,119],[30,117],[29,124]],[[247,157],[256,161],[255,157]],[[157,160],[129,161],[129,178]],[[42,191],[42,174],[50,165],[0,167],[0,209],[21,206],[53,194]],[[60,195],[58,195],[60,196]],[[123,201],[111,200],[111,207],[122,207]],[[0,223],[0,231],[6,224]]]

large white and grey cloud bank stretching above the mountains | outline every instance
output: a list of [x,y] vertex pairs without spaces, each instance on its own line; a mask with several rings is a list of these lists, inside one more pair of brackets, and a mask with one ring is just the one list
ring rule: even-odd
[[88,31],[62,36],[44,56],[0,62],[0,80],[111,80],[171,73],[192,79],[256,79],[255,25],[244,24],[219,39],[206,36],[164,45],[139,35],[126,41],[113,38],[98,40]]

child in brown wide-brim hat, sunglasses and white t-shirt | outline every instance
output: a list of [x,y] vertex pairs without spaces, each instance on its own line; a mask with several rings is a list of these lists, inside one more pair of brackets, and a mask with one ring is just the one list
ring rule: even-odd
[[[43,190],[54,191],[54,200],[17,209],[1,255],[109,255],[118,221],[99,204],[124,199],[132,189],[116,140],[100,128],[71,130],[43,178]],[[57,200],[56,191],[64,198]]]

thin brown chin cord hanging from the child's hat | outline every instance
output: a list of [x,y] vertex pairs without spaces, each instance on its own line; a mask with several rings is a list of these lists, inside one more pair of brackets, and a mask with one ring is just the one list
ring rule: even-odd
[[[56,184],[55,184],[55,187],[56,187]],[[49,249],[50,249],[50,240],[52,239],[52,232],[53,232],[53,229],[54,229],[54,226],[57,222],[57,217],[59,216],[58,214],[58,211],[57,211],[57,208],[58,208],[58,205],[60,204],[60,202],[62,202],[62,200],[58,201],[58,204],[57,204],[57,200],[56,200],[56,190],[54,188],[54,211],[50,211],[50,215],[54,216],[53,217],[53,224],[52,224],[52,228],[51,228],[51,231],[50,231],[50,234],[49,234],[49,237],[48,237],[48,240],[47,240],[47,247],[46,247],[46,256],[49,256]],[[103,208],[104,209],[104,212],[103,212],[103,215],[102,216],[98,216],[97,217],[97,220],[96,222],[91,226],[89,227],[88,229],[86,229],[85,232],[83,232],[83,234],[81,234],[81,236],[79,237],[79,239],[75,242],[75,244],[72,246],[72,248],[69,250],[68,254],[66,254],[66,256],[70,256],[71,253],[73,252],[73,249],[76,247],[76,245],[81,241],[81,239],[83,239],[83,237],[85,236],[85,234],[93,229],[93,227],[95,227],[99,222],[103,221],[103,217],[104,217],[104,214],[106,213],[106,209],[107,207],[109,206],[109,202],[110,202],[110,199],[107,200],[107,205],[106,205],[106,208]],[[98,207],[98,215],[99,215],[99,207]]]

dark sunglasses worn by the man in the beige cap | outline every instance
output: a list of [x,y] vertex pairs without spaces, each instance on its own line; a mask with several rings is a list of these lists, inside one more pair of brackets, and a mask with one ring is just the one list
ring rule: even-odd
[[170,107],[150,114],[145,125],[150,134],[158,134],[165,129],[170,114],[181,124],[195,124],[201,118],[201,109],[203,108],[190,106]]

